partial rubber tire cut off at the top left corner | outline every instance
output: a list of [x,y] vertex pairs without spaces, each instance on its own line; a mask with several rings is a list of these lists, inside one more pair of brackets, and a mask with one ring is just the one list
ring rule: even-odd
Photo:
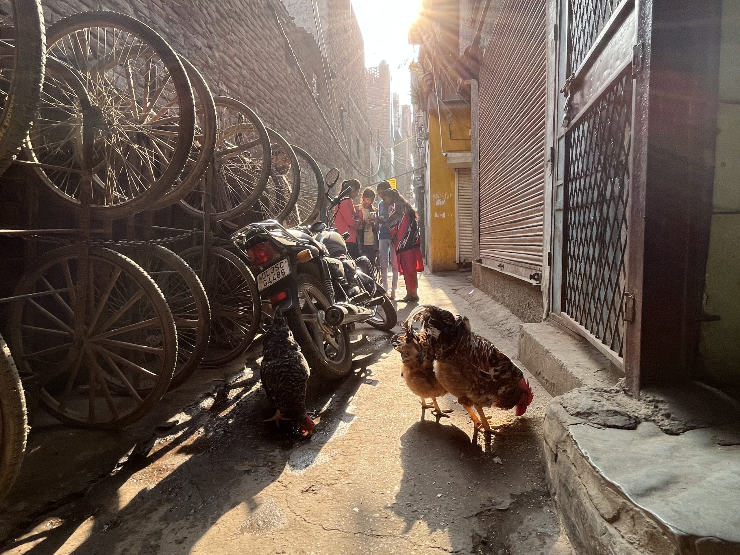
[[[10,166],[23,146],[36,117],[36,104],[44,83],[46,36],[44,16],[38,0],[12,0],[16,33],[16,70],[7,95],[6,110],[0,115],[0,175]],[[21,68],[18,71],[17,68]],[[7,110],[10,106],[10,110]]]

